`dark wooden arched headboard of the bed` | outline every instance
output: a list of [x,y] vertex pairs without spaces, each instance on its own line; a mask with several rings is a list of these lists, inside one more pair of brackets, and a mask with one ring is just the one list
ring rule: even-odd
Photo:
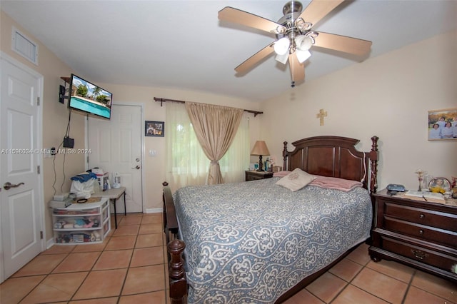
[[[283,168],[301,168],[310,174],[361,181],[370,193],[376,193],[378,136],[371,138],[371,151],[356,149],[358,139],[341,136],[315,136],[294,141],[293,151],[287,151],[284,141]],[[369,183],[368,183],[369,181]],[[369,186],[369,187],[368,187]]]

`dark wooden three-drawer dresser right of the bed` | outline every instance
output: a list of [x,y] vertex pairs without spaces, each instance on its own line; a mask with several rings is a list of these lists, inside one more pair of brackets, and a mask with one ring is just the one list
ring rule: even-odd
[[396,260],[457,282],[457,206],[390,196],[376,200],[371,258]]

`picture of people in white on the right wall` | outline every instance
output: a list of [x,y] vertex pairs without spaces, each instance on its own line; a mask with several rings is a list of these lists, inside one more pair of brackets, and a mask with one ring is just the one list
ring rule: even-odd
[[457,108],[428,111],[428,140],[457,140]]

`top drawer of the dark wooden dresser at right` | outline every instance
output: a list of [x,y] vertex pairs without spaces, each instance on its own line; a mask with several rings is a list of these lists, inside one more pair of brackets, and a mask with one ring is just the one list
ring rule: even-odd
[[384,210],[385,216],[400,218],[404,221],[418,223],[426,226],[433,226],[444,230],[457,232],[457,216],[450,213],[430,211],[411,206],[396,205],[386,202]]

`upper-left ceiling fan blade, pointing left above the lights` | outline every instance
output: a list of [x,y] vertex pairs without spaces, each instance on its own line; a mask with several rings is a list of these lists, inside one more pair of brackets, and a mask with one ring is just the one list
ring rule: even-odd
[[222,21],[243,24],[245,26],[253,27],[254,29],[261,29],[262,31],[276,31],[278,27],[284,31],[286,30],[284,26],[281,26],[281,24],[277,24],[274,21],[248,13],[247,11],[241,11],[241,9],[234,9],[230,6],[226,6],[224,9],[221,9],[218,13],[218,17],[219,20]]

